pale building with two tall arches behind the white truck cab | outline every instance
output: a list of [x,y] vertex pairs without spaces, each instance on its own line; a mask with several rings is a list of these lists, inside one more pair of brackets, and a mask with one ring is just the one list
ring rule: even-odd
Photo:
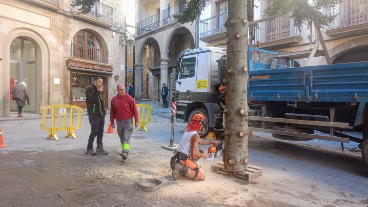
[[162,101],[162,83],[170,91],[175,87],[176,59],[195,47],[196,22],[177,22],[175,15],[185,8],[177,0],[136,0],[135,5],[136,98]]

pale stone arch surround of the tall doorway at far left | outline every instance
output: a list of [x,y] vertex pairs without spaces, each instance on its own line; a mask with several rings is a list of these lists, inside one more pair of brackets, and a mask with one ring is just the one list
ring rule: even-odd
[[[10,31],[4,38],[3,45],[3,54],[4,60],[2,61],[2,68],[0,68],[0,74],[4,77],[4,81],[1,84],[2,91],[5,91],[4,97],[2,99],[2,115],[9,116],[10,115],[10,45],[11,43],[19,37],[23,37],[31,41],[36,49],[36,61],[37,68],[36,71],[41,75],[37,75],[37,86],[36,89],[38,91],[37,95],[37,104],[36,104],[36,113],[40,113],[41,105],[48,105],[49,100],[49,86],[50,86],[50,50],[47,42],[44,38],[36,31],[28,29],[28,28],[17,28]],[[32,101],[32,100],[31,100]],[[1,102],[1,101],[0,101]]]

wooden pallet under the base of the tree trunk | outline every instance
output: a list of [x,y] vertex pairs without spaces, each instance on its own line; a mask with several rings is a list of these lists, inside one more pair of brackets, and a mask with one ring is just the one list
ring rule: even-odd
[[216,165],[212,165],[211,166],[211,171],[218,172],[218,173],[225,174],[225,175],[238,177],[238,178],[246,180],[246,181],[252,181],[253,179],[255,179],[258,176],[262,175],[262,167],[251,166],[251,165],[248,165],[248,168],[245,171],[229,172],[229,171],[225,170],[223,162],[217,163]]

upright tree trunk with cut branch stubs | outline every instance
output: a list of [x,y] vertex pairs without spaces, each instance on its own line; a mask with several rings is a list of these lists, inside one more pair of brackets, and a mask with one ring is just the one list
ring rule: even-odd
[[247,0],[231,0],[226,21],[225,152],[227,171],[244,171],[248,165],[248,21]]

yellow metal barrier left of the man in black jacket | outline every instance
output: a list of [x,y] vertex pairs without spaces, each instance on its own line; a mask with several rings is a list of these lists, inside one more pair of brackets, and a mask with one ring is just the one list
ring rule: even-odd
[[[46,126],[46,111],[51,110],[51,126]],[[59,111],[57,111],[59,109]],[[69,110],[68,110],[69,109]],[[78,124],[77,126],[73,125],[74,122],[74,109],[77,110],[78,113]],[[42,121],[41,121],[41,129],[43,131],[48,131],[49,135],[47,139],[54,138],[55,140],[58,139],[57,131],[58,130],[67,130],[67,134],[65,137],[72,137],[74,139],[77,139],[77,137],[74,134],[75,129],[79,129],[81,127],[81,116],[82,116],[82,108],[76,105],[48,105],[48,106],[41,106],[41,112],[42,112]],[[59,125],[58,127],[55,126],[55,116],[56,114],[59,114]],[[69,123],[67,123],[66,116],[69,114]],[[61,118],[63,116],[63,118]],[[64,124],[61,126],[61,119],[63,119]],[[69,126],[67,126],[69,124]]]

